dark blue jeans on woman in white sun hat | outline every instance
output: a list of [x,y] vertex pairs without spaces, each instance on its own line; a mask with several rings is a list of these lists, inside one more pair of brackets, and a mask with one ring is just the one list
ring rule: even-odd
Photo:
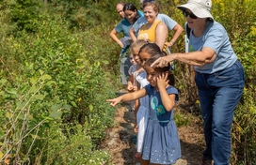
[[216,165],[229,165],[232,118],[245,86],[244,69],[236,61],[232,67],[213,74],[197,72],[195,82],[204,122],[203,158],[214,159]]

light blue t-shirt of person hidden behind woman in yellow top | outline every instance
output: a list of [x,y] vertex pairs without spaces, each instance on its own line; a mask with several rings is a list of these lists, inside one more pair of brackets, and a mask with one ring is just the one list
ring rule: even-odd
[[[159,13],[157,15],[157,20],[165,23],[168,26],[169,30],[172,30],[173,27],[177,24],[174,20],[169,18],[168,15],[166,15],[166,14]],[[137,19],[136,23],[133,25],[135,32],[137,33],[139,31],[140,27],[146,23],[147,23],[147,20],[145,19],[145,17],[140,17],[139,19]]]

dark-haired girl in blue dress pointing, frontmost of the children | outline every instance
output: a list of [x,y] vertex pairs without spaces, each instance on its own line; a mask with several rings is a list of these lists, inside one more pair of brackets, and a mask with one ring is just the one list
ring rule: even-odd
[[174,85],[174,76],[168,67],[151,67],[152,63],[162,57],[161,52],[154,54],[145,63],[147,79],[150,84],[134,92],[107,99],[111,106],[121,101],[132,101],[148,96],[149,119],[144,136],[141,165],[174,164],[181,158],[181,145],[178,131],[173,119],[173,108],[179,99]]

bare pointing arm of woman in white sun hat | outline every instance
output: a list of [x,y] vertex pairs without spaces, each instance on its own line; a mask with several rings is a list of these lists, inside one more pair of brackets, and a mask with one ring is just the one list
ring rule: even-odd
[[160,57],[152,63],[152,67],[165,67],[173,60],[178,60],[191,66],[204,66],[212,63],[216,59],[216,52],[211,48],[204,47],[201,51],[187,53],[172,53],[164,57]]

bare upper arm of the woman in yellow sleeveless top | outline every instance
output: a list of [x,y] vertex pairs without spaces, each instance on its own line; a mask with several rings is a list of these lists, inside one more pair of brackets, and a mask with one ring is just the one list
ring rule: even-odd
[[159,23],[155,31],[155,43],[163,50],[168,37],[168,27],[165,23]]

